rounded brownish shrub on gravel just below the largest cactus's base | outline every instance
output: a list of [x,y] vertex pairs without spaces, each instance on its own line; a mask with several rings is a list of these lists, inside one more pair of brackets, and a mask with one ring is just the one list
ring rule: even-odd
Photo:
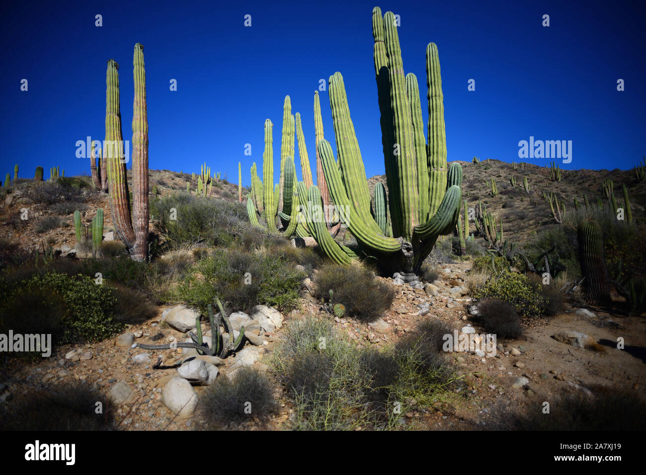
[[333,290],[333,303],[342,303],[349,316],[373,321],[393,303],[395,291],[375,278],[375,273],[359,266],[328,264],[320,269],[314,279],[315,295],[329,299]]

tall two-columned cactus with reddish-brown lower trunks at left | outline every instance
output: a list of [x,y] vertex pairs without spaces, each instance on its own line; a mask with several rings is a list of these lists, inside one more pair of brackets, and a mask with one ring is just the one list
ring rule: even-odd
[[133,54],[134,101],[132,105],[132,217],[130,217],[129,190],[126,164],[123,160],[123,136],[119,105],[119,65],[110,59],[106,74],[105,143],[112,147],[103,150],[107,160],[110,214],[117,236],[125,244],[135,261],[148,259],[148,118],[146,105],[146,74],[143,45],[134,45]]

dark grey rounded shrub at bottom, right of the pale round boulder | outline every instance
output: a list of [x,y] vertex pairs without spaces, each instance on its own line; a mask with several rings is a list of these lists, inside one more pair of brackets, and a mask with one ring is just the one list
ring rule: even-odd
[[[247,407],[251,412],[245,412]],[[249,367],[237,370],[234,376],[217,378],[200,397],[200,415],[206,421],[206,430],[233,429],[251,420],[266,426],[277,412],[278,403],[266,372]]]

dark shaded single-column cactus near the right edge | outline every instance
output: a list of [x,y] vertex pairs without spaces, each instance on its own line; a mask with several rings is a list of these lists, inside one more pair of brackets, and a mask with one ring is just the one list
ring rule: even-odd
[[603,256],[601,227],[592,219],[581,221],[577,228],[577,236],[585,294],[592,303],[607,304],[610,302],[610,285]]

